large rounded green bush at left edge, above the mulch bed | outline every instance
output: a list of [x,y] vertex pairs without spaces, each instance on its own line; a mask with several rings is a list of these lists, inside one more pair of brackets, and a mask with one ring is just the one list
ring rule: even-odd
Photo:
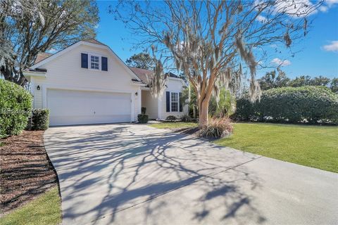
[[0,138],[18,135],[25,129],[32,96],[22,86],[0,79]]

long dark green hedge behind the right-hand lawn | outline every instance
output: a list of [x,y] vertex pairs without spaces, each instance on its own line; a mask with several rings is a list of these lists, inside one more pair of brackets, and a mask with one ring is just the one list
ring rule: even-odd
[[338,124],[338,95],[320,86],[263,91],[261,101],[237,99],[237,120]]

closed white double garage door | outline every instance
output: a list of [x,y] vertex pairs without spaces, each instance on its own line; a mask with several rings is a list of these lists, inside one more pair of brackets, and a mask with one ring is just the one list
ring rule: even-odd
[[130,122],[130,94],[47,90],[51,126]]

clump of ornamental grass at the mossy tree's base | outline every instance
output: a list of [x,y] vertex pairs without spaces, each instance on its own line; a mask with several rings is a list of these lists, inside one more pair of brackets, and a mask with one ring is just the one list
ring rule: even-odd
[[212,118],[208,125],[201,127],[199,136],[206,138],[223,138],[233,131],[231,121],[228,117]]

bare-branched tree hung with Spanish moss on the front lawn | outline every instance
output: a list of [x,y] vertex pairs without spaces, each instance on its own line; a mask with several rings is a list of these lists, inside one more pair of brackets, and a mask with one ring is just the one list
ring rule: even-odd
[[256,60],[258,51],[272,44],[290,48],[307,34],[308,15],[320,4],[306,0],[120,1],[111,6],[111,13],[130,28],[132,37],[139,39],[138,46],[152,46],[162,63],[175,63],[187,76],[196,92],[202,126],[208,124],[212,94],[218,96],[221,86],[243,77],[241,62],[251,75],[250,96],[259,98],[255,75],[263,62]]

